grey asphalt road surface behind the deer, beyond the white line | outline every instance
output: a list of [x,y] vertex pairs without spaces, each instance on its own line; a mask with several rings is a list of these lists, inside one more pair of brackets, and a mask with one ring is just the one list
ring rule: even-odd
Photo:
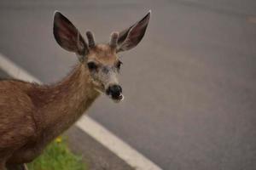
[[43,82],[76,58],[52,35],[55,9],[98,42],[152,20],[120,54],[125,101],[102,96],[89,114],[166,170],[256,169],[254,0],[0,1],[0,52]]

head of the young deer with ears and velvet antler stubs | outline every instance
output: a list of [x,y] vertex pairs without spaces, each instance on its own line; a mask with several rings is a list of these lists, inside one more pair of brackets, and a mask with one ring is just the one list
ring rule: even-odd
[[90,73],[93,87],[114,101],[124,99],[118,73],[122,62],[118,53],[137,46],[146,32],[151,12],[124,31],[113,32],[108,43],[96,43],[93,33],[86,32],[88,42],[60,12],[54,15],[54,36],[61,48],[77,54],[80,65]]

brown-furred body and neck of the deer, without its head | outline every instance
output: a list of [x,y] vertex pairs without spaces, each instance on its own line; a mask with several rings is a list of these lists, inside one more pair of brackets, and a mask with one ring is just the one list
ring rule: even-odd
[[83,64],[51,86],[1,81],[0,165],[32,161],[76,122],[98,95]]

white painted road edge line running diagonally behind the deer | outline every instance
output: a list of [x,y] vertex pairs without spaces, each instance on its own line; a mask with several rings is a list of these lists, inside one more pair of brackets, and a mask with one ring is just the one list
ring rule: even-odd
[[[3,56],[3,54],[0,54],[0,68],[11,77],[28,82],[42,83],[36,77],[33,77],[30,73]],[[129,144],[126,144],[89,116],[82,116],[79,122],[76,123],[76,126],[103,144],[108,150],[111,150],[131,167],[135,167],[137,170],[161,170],[154,162],[148,160],[147,157],[133,149]]]

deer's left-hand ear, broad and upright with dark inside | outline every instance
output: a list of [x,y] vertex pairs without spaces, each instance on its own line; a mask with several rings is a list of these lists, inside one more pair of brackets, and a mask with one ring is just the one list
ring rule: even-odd
[[87,43],[79,33],[79,30],[58,11],[55,11],[54,15],[53,32],[55,40],[61,48],[79,54],[80,56],[88,53]]

